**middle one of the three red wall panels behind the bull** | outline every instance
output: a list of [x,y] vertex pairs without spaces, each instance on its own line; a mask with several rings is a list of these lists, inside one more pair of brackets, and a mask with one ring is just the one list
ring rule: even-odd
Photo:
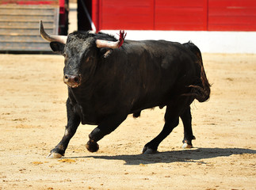
[[204,0],[158,0],[155,2],[156,30],[204,30]]

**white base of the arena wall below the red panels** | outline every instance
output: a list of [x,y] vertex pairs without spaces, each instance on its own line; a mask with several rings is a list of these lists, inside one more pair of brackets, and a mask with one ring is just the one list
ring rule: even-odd
[[[117,30],[103,30],[117,35]],[[143,31],[127,30],[127,40],[169,40],[185,43],[191,40],[204,53],[256,54],[256,32]]]

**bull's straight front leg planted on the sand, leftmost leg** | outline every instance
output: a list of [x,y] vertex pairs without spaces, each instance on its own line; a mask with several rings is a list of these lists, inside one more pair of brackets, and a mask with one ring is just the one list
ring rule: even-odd
[[71,138],[75,135],[75,132],[80,124],[81,120],[78,114],[75,112],[74,106],[71,104],[70,99],[67,99],[67,126],[63,139],[59,142],[47,158],[61,158],[64,156],[67,149],[67,145]]

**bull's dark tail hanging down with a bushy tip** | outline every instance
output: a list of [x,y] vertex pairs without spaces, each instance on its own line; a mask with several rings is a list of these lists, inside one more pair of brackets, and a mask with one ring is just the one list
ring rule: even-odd
[[193,95],[199,102],[207,101],[210,97],[211,85],[209,84],[208,79],[205,74],[205,71],[204,71],[204,65],[203,65],[201,51],[195,44],[193,44],[191,42],[185,43],[183,45],[186,48],[188,48],[190,51],[192,51],[193,54],[195,54],[197,56],[197,59],[200,63],[200,67],[201,67],[201,77],[200,77],[201,80],[200,80],[200,82],[197,82],[197,84],[189,86],[189,88],[191,89],[189,95]]

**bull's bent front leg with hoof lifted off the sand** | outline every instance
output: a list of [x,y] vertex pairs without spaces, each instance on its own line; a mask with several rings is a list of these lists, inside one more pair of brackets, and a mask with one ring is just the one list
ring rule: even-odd
[[89,141],[86,144],[87,150],[90,152],[97,152],[99,146],[97,141],[102,139],[105,135],[109,135],[114,131],[128,116],[128,114],[117,114],[107,117],[101,122],[89,135]]

